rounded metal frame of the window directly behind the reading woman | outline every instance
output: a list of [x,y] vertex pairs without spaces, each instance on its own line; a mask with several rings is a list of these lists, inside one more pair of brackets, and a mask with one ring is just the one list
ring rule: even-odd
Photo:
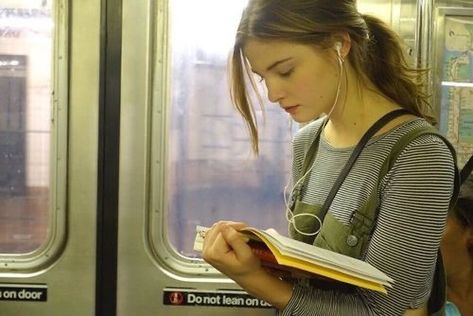
[[[161,270],[176,279],[195,282],[233,283],[217,269],[201,258],[188,257],[180,254],[171,242],[168,225],[169,173],[167,170],[170,148],[171,124],[171,36],[169,10],[171,0],[151,1],[151,39],[150,53],[147,55],[147,64],[150,67],[150,85],[148,96],[148,130],[149,145],[147,153],[146,183],[147,205],[145,207],[144,239],[146,250]],[[206,64],[205,60],[196,60],[199,65]],[[158,83],[158,84],[156,84]],[[264,89],[264,87],[262,87]],[[230,100],[230,99],[229,99]],[[254,101],[257,101],[255,99]],[[258,118],[264,120],[264,113],[257,111]],[[241,122],[242,126],[243,122]],[[291,124],[292,129],[292,124]],[[244,130],[246,133],[246,129]],[[245,134],[247,136],[247,134]],[[292,138],[292,135],[289,139]],[[249,144],[249,139],[248,139]],[[289,144],[289,142],[288,142]],[[248,147],[250,150],[250,147]],[[287,153],[290,155],[290,152]],[[290,166],[288,166],[290,168]],[[281,188],[282,190],[282,188]],[[281,216],[284,216],[281,213]]]

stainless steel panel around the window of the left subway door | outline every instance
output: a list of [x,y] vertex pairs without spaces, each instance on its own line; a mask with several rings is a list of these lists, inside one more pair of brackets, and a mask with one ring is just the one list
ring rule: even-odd
[[70,1],[69,9],[70,79],[63,78],[61,83],[69,88],[69,98],[58,104],[59,111],[67,109],[69,117],[68,131],[62,131],[69,133],[68,182],[58,188],[68,194],[67,240],[60,257],[43,270],[0,275],[0,283],[48,286],[47,302],[2,301],[0,315],[95,313],[100,1]]

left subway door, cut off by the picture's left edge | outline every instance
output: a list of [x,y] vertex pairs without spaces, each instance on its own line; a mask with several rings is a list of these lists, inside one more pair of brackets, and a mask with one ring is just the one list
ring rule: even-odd
[[0,0],[0,315],[94,315],[100,1]]

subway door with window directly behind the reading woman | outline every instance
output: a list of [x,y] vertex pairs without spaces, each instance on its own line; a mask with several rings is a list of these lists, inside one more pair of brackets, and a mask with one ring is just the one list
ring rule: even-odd
[[245,4],[123,1],[117,315],[275,314],[193,250],[221,219],[287,229],[292,126],[268,104],[254,157],[228,95]]

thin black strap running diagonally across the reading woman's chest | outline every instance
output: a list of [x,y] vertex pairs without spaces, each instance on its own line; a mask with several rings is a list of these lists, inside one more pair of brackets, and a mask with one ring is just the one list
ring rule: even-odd
[[325,218],[325,215],[327,214],[327,211],[332,204],[333,199],[337,195],[338,190],[340,189],[340,186],[342,185],[343,181],[345,180],[346,176],[348,175],[348,172],[350,172],[350,169],[353,167],[353,164],[355,163],[356,159],[360,155],[361,151],[365,147],[366,143],[368,143],[369,139],[376,134],[378,130],[380,130],[384,125],[386,125],[388,122],[392,121],[396,117],[405,115],[405,114],[411,114],[406,109],[399,109],[399,110],[394,110],[392,112],[389,112],[388,114],[384,115],[381,117],[376,123],[374,123],[368,131],[363,135],[363,137],[360,139],[358,144],[356,145],[355,149],[353,150],[350,158],[348,158],[347,163],[345,164],[345,167],[343,167],[343,170],[340,172],[338,175],[337,180],[335,181],[334,185],[332,186],[332,189],[330,190],[329,194],[327,195],[327,198],[325,199],[324,204],[322,205],[322,208],[320,209],[319,213],[319,219],[322,222],[323,219]]

